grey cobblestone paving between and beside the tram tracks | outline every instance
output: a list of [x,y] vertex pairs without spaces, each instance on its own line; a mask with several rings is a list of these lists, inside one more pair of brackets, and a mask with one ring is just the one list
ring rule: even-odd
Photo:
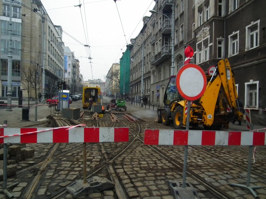
[[[79,101],[77,101],[78,103]],[[127,112],[131,112],[138,118],[142,118],[146,123],[155,128],[173,129],[172,126],[161,126],[155,123],[155,111],[145,110],[145,108],[130,107],[128,105]],[[31,108],[34,109],[34,108]],[[30,113],[33,112],[30,109]],[[133,111],[131,111],[133,109]],[[47,106],[40,106],[38,110],[38,120],[45,120],[46,115],[49,115],[51,109]],[[0,110],[2,112],[2,110]],[[142,112],[142,111],[145,111]],[[148,112],[149,111],[149,112]],[[11,118],[21,119],[21,108],[13,108],[12,116],[6,115],[4,119],[8,119],[8,126],[17,127],[21,126],[21,122],[10,121]],[[10,113],[9,113],[10,114]],[[13,116],[15,114],[15,116]],[[29,122],[24,124],[35,124],[39,121],[34,121],[34,115],[30,114]],[[33,121],[32,121],[33,120]],[[107,125],[110,121],[105,117],[102,118],[101,124]],[[143,130],[149,126],[142,124],[142,131],[140,136],[143,138]],[[233,128],[242,128],[241,126],[232,126]],[[134,127],[135,128],[135,127]],[[260,128],[260,127],[259,127]],[[10,189],[14,198],[23,198],[28,188],[36,181],[37,174],[41,165],[37,165],[47,158],[47,155],[52,151],[56,144],[27,144],[26,147],[35,149],[35,156],[17,163],[17,174],[10,176],[7,179],[7,185],[15,182],[19,184]],[[123,144],[121,144],[123,145]],[[76,147],[79,149],[73,151]],[[116,152],[120,144],[89,144],[87,146],[87,172],[90,173],[95,167],[103,163],[104,157],[102,156],[102,149],[105,149],[106,154]],[[165,153],[170,158],[174,159],[180,165],[184,161],[184,147],[182,146],[157,146],[161,152]],[[64,154],[63,156],[60,156]],[[212,155],[214,154],[214,156]],[[266,175],[265,164],[265,146],[256,148],[255,163],[252,163],[252,171]],[[229,194],[235,199],[251,199],[254,198],[249,191],[238,187],[230,187],[229,182],[245,184],[247,178],[247,157],[248,147],[234,146],[234,147],[189,147],[188,150],[188,172],[194,173],[201,178],[205,179],[210,184],[218,187],[220,190]],[[58,144],[56,152],[49,160],[48,167],[43,171],[42,180],[37,185],[32,198],[49,198],[53,193],[60,191],[67,184],[74,182],[82,177],[83,169],[83,152],[82,143],[62,143]],[[243,168],[238,168],[229,163],[241,164]],[[37,165],[26,172],[20,171]],[[111,164],[116,170],[119,182],[124,188],[129,198],[135,199],[172,199],[167,185],[167,180],[182,180],[182,169],[175,166],[170,160],[165,159],[160,154],[155,153],[148,146],[143,145],[140,141],[136,141],[121,157],[117,158]],[[219,166],[219,167],[218,167]],[[219,169],[218,169],[219,168]],[[102,169],[97,173],[100,177],[109,179],[106,169]],[[190,182],[193,187],[197,189],[199,197],[202,199],[216,198],[211,195],[206,188],[194,176],[187,174],[186,180]],[[266,199],[266,180],[260,178],[255,174],[251,175],[251,186],[260,185],[261,189],[255,192],[261,199]],[[0,183],[2,186],[2,182]],[[4,194],[0,193],[0,199],[7,198]],[[71,194],[65,194],[62,198],[71,199]],[[114,190],[95,191],[80,198],[102,198],[102,199],[115,199],[116,194]]]

